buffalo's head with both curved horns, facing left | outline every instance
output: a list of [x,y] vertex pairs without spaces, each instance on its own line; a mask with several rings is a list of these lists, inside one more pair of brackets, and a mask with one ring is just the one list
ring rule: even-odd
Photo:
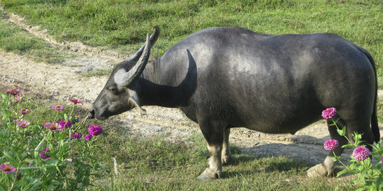
[[118,64],[112,71],[99,96],[92,104],[90,117],[105,120],[111,115],[118,115],[133,108],[140,108],[135,89],[135,81],[145,69],[150,56],[150,49],[160,35],[160,28],[147,35],[145,45],[128,60]]

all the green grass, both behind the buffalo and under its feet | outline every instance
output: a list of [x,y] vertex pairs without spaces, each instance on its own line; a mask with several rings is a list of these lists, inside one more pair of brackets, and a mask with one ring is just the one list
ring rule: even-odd
[[[240,26],[272,34],[335,33],[371,52],[379,84],[383,84],[380,0],[1,0],[1,5],[25,16],[25,22],[47,29],[58,41],[82,41],[118,52],[135,52],[145,34],[151,33],[151,26],[159,25],[162,35],[152,57],[160,56],[183,37],[213,26]],[[44,62],[59,63],[57,59],[65,57],[3,19],[0,47]],[[30,105],[40,111],[33,119],[39,122],[41,116],[47,116],[45,110],[52,104]],[[379,116],[383,116],[382,106],[379,103]],[[379,120],[382,122],[381,117]],[[138,139],[117,128],[121,125],[113,120],[101,125],[106,131],[104,139],[99,139],[97,158],[107,169],[100,179],[106,184],[98,181],[95,190],[355,190],[342,179],[306,178],[309,166],[304,163],[284,157],[248,156],[236,147],[231,148],[233,161],[223,167],[222,179],[199,181],[196,176],[206,168],[209,155],[201,134],[190,137],[189,144],[171,143],[161,137]],[[113,172],[112,157],[119,164],[118,175]]]

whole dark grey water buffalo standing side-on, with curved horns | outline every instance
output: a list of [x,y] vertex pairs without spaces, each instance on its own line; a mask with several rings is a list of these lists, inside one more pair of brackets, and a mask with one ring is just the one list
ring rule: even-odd
[[[141,105],[180,108],[207,141],[211,160],[201,179],[221,176],[231,156],[231,127],[294,134],[333,107],[349,139],[353,132],[362,133],[365,144],[379,139],[374,61],[353,42],[331,33],[264,35],[245,28],[206,28],[148,62],[159,34],[156,26],[145,45],[113,69],[89,116],[105,120]],[[335,127],[328,131],[340,146],[346,144]],[[308,175],[331,175],[332,156]]]

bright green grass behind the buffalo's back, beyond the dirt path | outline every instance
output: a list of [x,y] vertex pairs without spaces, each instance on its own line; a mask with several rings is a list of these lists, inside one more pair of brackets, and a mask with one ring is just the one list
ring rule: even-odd
[[[162,29],[152,51],[158,57],[183,37],[202,28],[240,26],[258,33],[329,32],[365,47],[383,82],[383,3],[380,0],[3,0],[6,11],[26,16],[57,40],[134,52]],[[383,84],[383,83],[380,83]],[[382,87],[382,86],[380,86]]]

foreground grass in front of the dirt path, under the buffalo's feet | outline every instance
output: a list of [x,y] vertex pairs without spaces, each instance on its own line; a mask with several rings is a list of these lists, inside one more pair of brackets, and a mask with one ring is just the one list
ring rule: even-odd
[[[28,97],[26,94],[23,93],[23,98]],[[55,118],[51,106],[57,101],[40,94],[39,99],[24,100],[21,105],[31,110],[27,117],[32,124]],[[66,108],[62,112],[69,112],[71,104],[63,104]],[[81,119],[85,112],[77,108],[74,116]],[[237,146],[231,146],[233,158],[228,166],[223,166],[221,179],[198,180],[196,177],[208,166],[209,158],[200,132],[184,141],[167,141],[160,135],[142,139],[113,118],[102,122],[89,120],[84,126],[98,124],[104,129],[94,143],[95,156],[106,173],[101,178],[92,178],[94,187],[89,187],[90,190],[355,190],[348,180],[307,178],[309,166],[305,163],[284,156],[243,154]],[[4,125],[1,120],[0,125]],[[87,134],[87,128],[79,132]],[[111,158],[116,158],[118,175]]]

